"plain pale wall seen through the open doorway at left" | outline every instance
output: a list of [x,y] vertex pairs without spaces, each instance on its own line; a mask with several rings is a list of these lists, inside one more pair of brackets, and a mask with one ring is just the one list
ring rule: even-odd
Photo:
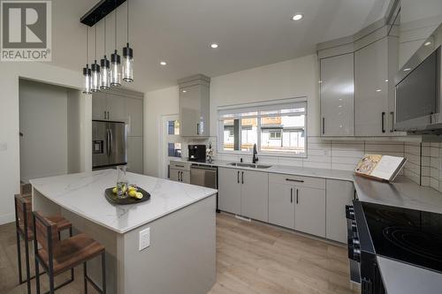
[[19,81],[20,179],[67,172],[67,90]]

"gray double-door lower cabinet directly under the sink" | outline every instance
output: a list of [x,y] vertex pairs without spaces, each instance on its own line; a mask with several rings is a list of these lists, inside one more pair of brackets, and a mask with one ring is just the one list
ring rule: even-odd
[[219,168],[219,209],[268,222],[268,185],[266,172]]

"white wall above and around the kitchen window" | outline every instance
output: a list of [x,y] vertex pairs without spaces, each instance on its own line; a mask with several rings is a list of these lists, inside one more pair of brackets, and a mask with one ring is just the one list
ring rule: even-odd
[[217,107],[307,96],[309,136],[319,135],[319,66],[316,55],[255,67],[210,81],[210,134],[217,135]]

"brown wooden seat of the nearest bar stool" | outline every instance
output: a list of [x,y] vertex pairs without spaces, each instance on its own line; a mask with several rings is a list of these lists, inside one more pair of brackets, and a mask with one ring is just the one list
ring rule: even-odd
[[[57,248],[54,249],[54,252],[57,253],[53,257],[54,275],[59,275],[68,269],[75,268],[104,252],[104,246],[86,234],[79,234],[62,240],[57,245]],[[48,267],[48,253],[44,249],[39,249],[38,255],[45,266]]]

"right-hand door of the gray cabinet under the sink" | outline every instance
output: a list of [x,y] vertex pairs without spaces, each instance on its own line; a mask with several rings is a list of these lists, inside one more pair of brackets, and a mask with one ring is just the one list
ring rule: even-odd
[[269,174],[241,170],[241,215],[269,221]]

